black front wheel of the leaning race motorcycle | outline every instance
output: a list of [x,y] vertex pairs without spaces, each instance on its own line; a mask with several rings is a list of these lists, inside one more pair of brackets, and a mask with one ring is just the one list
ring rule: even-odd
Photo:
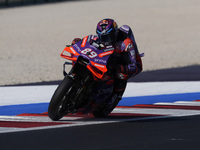
[[66,111],[62,111],[62,108],[67,103],[66,96],[73,84],[74,80],[66,76],[54,92],[48,107],[48,116],[53,121],[58,121],[67,114]]

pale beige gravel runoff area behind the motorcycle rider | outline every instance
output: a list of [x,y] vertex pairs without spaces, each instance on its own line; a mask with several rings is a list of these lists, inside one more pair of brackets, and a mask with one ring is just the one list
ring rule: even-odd
[[131,26],[144,71],[200,65],[199,0],[82,0],[0,9],[0,85],[61,80],[59,55],[103,18]]

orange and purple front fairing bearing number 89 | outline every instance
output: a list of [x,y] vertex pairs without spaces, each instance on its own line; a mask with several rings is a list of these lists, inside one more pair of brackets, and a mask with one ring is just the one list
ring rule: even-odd
[[[71,55],[65,55],[65,52],[68,52]],[[78,57],[82,56],[89,60],[87,68],[92,72],[92,74],[95,77],[102,79],[104,74],[107,72],[107,62],[113,52],[114,48],[112,46],[108,46],[103,50],[97,49],[90,43],[88,36],[86,36],[76,44],[70,47],[65,47],[60,56],[73,61],[73,64],[76,63]]]

